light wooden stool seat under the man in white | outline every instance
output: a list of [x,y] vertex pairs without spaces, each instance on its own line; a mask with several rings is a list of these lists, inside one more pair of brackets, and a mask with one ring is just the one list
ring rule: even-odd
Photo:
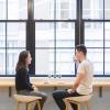
[[86,101],[88,101],[91,97],[92,97],[92,95],[80,96],[80,97],[69,97],[69,98],[66,98],[66,100],[68,100],[68,101],[76,101],[76,102],[86,102]]

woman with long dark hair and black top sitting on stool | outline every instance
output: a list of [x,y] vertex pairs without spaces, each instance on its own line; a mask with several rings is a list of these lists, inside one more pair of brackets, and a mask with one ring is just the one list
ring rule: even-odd
[[[31,64],[32,57],[29,51],[23,51],[19,55],[19,61],[15,68],[15,89],[20,95],[37,96],[42,97],[40,100],[41,107],[46,100],[46,94],[38,91],[38,89],[30,82],[29,65]],[[37,110],[37,105],[34,110]]]

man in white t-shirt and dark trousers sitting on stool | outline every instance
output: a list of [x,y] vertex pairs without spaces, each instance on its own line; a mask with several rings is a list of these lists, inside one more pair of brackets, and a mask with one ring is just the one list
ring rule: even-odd
[[[61,110],[65,110],[66,108],[63,101],[64,98],[78,97],[92,92],[94,66],[91,62],[87,59],[87,48],[85,45],[76,46],[75,61],[79,62],[79,65],[73,87],[67,90],[57,90],[53,92],[53,98]],[[72,107],[74,110],[77,110],[77,105],[73,103]]]

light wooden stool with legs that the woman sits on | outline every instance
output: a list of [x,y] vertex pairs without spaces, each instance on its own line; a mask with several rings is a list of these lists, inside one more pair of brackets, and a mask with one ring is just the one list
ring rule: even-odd
[[41,97],[35,97],[35,96],[24,96],[24,95],[14,95],[15,100],[18,101],[18,105],[15,107],[15,110],[20,110],[20,105],[25,103],[26,105],[26,110],[32,110],[32,102],[37,103],[38,110],[41,109],[38,99],[42,99]]

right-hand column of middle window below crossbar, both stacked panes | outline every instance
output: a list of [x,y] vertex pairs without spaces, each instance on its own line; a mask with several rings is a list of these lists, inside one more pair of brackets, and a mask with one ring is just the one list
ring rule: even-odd
[[[62,24],[68,26],[62,26]],[[56,74],[75,75],[75,23],[56,23]]]

